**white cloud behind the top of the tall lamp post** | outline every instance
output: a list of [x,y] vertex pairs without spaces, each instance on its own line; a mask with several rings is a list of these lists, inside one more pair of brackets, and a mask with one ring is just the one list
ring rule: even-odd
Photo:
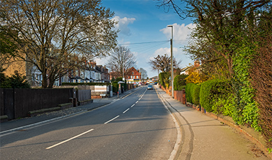
[[[183,40],[183,41],[188,41],[189,35],[192,31],[192,28],[195,28],[195,24],[172,24],[173,26],[173,38],[174,40]],[[160,29],[160,31],[163,31],[163,34],[170,39],[171,38],[171,27],[165,27],[164,29]]]

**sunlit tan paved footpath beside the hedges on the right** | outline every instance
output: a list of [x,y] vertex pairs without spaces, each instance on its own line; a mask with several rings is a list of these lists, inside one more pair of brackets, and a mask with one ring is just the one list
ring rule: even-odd
[[158,86],[154,87],[179,122],[181,142],[175,159],[269,159],[232,127],[183,105]]

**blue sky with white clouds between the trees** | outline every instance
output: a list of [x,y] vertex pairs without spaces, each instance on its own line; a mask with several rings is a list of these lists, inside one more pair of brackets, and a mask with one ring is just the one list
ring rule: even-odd
[[[168,54],[170,57],[171,27],[173,25],[173,56],[181,61],[180,68],[193,64],[184,46],[188,45],[191,29],[195,27],[190,18],[181,20],[174,10],[165,12],[153,0],[103,0],[103,6],[115,13],[113,20],[118,21],[118,45],[133,52],[136,68],[144,68],[149,78],[158,75],[148,63],[154,57]],[[106,65],[106,59],[96,59],[96,64]]]

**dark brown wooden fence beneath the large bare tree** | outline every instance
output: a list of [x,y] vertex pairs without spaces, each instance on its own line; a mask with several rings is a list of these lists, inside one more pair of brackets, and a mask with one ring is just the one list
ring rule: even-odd
[[0,89],[0,114],[8,119],[27,117],[29,111],[53,108],[75,97],[72,88]]

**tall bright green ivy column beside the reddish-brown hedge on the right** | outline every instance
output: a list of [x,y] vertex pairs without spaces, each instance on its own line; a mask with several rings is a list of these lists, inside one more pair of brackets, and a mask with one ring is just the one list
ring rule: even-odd
[[254,54],[255,52],[250,48],[250,45],[243,45],[234,57],[232,84],[236,96],[236,114],[233,118],[238,124],[248,124],[259,131],[259,109],[257,102],[253,99],[255,90],[252,88],[249,77],[250,62]]

